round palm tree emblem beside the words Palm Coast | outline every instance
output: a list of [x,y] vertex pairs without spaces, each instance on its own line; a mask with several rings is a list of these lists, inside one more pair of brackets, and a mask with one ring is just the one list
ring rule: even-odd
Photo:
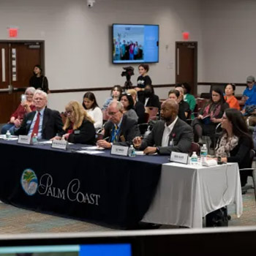
[[37,192],[38,180],[33,170],[24,170],[20,183],[27,195],[34,195]]

